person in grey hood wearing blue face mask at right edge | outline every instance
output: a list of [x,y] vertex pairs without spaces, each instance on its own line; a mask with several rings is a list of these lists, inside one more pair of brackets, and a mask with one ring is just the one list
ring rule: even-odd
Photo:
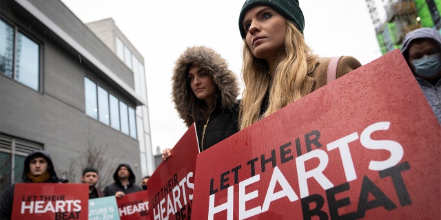
[[404,36],[402,55],[441,124],[441,34],[418,28]]

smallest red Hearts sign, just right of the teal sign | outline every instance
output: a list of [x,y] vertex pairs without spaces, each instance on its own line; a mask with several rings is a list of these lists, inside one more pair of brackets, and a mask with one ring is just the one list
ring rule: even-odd
[[147,190],[132,192],[116,198],[121,220],[149,220],[149,201]]

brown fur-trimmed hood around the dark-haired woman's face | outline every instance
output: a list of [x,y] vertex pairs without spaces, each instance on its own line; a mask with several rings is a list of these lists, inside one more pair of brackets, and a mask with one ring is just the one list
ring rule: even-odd
[[211,48],[204,46],[188,47],[176,60],[172,76],[172,100],[179,116],[187,121],[189,115],[189,97],[194,96],[187,80],[189,65],[199,65],[212,76],[220,91],[223,109],[231,109],[239,94],[236,74],[228,69],[227,61]]

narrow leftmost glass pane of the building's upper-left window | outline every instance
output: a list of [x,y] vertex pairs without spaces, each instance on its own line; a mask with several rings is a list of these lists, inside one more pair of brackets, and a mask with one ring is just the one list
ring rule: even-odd
[[12,78],[14,28],[0,20],[0,73]]

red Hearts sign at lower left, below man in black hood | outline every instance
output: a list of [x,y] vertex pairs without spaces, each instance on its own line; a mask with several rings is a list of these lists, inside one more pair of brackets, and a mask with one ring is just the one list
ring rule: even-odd
[[88,219],[87,184],[15,184],[12,218]]

